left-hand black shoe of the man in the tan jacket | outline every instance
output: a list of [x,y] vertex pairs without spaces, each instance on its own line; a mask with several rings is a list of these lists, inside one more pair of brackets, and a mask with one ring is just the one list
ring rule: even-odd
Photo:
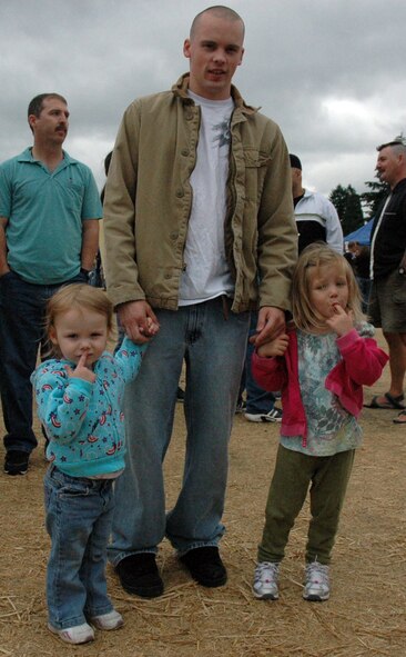
[[158,598],[163,594],[163,581],[153,553],[139,553],[121,559],[115,573],[128,594],[141,598]]

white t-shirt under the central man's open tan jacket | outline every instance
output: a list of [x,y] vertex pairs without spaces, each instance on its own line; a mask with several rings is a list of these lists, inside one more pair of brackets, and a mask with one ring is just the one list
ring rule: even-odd
[[225,259],[224,220],[229,176],[232,98],[207,100],[189,91],[201,108],[196,166],[190,182],[193,190],[184,250],[179,305],[190,306],[220,295],[232,296],[234,282]]

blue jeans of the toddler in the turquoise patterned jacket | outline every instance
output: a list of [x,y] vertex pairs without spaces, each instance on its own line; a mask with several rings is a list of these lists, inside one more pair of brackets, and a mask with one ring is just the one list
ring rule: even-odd
[[70,477],[50,466],[44,478],[49,623],[82,625],[113,606],[105,581],[106,546],[114,508],[113,479]]

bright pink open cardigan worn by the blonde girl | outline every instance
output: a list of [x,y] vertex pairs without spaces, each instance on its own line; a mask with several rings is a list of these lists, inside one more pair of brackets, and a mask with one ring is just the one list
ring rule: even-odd
[[[307,422],[298,385],[297,335],[288,330],[290,344],[282,357],[252,357],[252,374],[261,388],[281,390],[283,436],[303,436],[306,446]],[[363,408],[363,386],[372,386],[388,360],[372,338],[362,338],[355,329],[337,338],[342,360],[326,377],[325,387],[336,395],[342,406],[356,418]]]

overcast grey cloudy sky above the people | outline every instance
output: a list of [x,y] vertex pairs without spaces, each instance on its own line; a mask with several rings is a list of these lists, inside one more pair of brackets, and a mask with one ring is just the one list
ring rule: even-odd
[[[65,149],[103,183],[125,107],[187,70],[201,0],[0,0],[0,161],[31,145],[27,107],[57,91]],[[246,24],[234,82],[282,128],[304,183],[374,179],[376,146],[406,133],[405,0],[230,0]]]

